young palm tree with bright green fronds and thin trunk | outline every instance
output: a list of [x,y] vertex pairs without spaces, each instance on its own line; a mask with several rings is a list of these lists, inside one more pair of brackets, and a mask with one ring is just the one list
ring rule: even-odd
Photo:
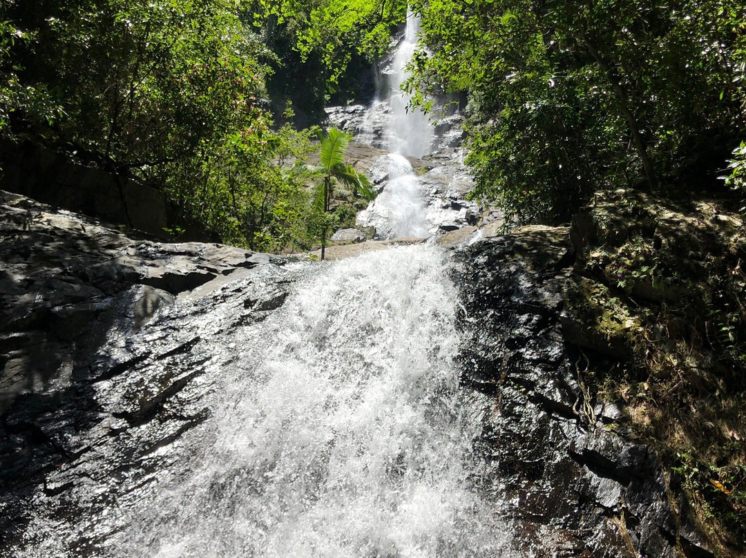
[[[375,198],[375,192],[371,189],[371,183],[362,172],[357,172],[352,165],[345,165],[344,157],[347,145],[352,136],[342,134],[339,130],[332,128],[328,134],[319,133],[322,142],[321,172],[323,181],[316,186],[316,195],[313,198],[313,210],[325,214],[329,211],[329,202],[333,195],[333,186],[337,181],[345,184],[354,194],[360,194],[368,201]],[[326,248],[327,225],[322,229],[322,261]]]

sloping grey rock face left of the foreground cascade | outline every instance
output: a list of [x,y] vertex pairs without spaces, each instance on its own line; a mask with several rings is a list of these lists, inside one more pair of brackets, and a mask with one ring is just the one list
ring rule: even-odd
[[285,260],[137,241],[7,192],[0,230],[0,555],[110,555],[121,525],[99,514],[210,415],[231,358],[210,339],[283,304]]

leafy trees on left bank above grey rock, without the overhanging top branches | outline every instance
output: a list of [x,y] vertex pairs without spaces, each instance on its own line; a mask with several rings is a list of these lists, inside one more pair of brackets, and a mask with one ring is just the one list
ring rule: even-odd
[[274,59],[232,0],[5,2],[0,133],[159,186],[224,242],[280,250],[307,236],[295,162],[313,148],[272,131]]

